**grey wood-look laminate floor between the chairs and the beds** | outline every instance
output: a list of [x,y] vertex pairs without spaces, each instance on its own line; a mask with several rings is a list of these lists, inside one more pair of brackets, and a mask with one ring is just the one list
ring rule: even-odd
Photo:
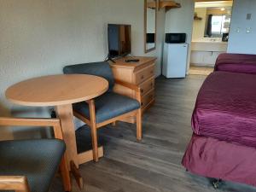
[[[192,131],[195,98],[206,76],[156,79],[154,107],[143,115],[143,141],[135,125],[118,123],[99,131],[105,155],[98,163],[80,166],[87,192],[256,192],[256,188],[226,182],[216,190],[209,179],[185,172],[183,153]],[[51,191],[62,191],[56,177]],[[73,182],[73,191],[79,191]]]

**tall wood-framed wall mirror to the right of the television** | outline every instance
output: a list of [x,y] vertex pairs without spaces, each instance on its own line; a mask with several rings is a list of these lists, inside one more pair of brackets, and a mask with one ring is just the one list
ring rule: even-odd
[[144,48],[145,53],[156,46],[157,0],[144,0]]

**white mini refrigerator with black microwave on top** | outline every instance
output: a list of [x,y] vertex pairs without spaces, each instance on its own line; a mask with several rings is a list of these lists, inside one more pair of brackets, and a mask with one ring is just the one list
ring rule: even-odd
[[162,74],[166,78],[185,78],[189,44],[165,44]]

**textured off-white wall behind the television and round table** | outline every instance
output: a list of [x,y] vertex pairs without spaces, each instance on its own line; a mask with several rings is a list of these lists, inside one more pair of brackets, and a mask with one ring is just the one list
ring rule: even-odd
[[[108,54],[108,23],[131,24],[132,54],[144,55],[144,1],[137,0],[1,0],[0,114],[49,116],[44,108],[21,108],[5,99],[4,91],[23,79],[62,73],[68,64],[102,61]],[[158,28],[165,26],[165,12]],[[164,32],[157,34],[156,75]],[[0,132],[0,139],[11,137]]]

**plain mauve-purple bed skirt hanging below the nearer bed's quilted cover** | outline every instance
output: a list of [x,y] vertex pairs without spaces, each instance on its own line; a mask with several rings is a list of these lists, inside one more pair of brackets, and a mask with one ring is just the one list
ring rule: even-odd
[[182,164],[189,172],[204,177],[221,178],[256,187],[255,160],[255,148],[193,135]]

